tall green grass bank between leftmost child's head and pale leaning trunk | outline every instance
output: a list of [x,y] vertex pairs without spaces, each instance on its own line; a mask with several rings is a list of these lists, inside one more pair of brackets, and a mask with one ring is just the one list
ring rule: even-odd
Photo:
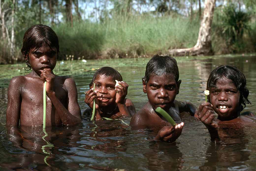
[[[60,59],[123,58],[167,53],[170,48],[192,47],[199,22],[187,18],[117,15],[104,23],[82,21],[53,28],[59,37]],[[188,32],[189,30],[189,32]],[[127,55],[126,55],[127,54]]]

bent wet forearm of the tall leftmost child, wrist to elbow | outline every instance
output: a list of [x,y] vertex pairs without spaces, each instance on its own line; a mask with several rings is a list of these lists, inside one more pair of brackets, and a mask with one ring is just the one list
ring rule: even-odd
[[47,96],[50,98],[52,104],[54,105],[58,115],[60,116],[60,119],[62,121],[62,124],[64,125],[74,125],[81,122],[81,118],[78,118],[74,115],[72,115],[66,108],[63,106],[63,104],[60,102],[60,100],[56,97],[55,92],[47,94]]

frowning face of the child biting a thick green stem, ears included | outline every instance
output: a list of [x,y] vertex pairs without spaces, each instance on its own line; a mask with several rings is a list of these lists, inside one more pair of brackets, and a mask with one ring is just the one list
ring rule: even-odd
[[173,74],[151,76],[147,84],[143,81],[143,92],[154,109],[161,107],[168,110],[179,92],[181,80],[176,83]]

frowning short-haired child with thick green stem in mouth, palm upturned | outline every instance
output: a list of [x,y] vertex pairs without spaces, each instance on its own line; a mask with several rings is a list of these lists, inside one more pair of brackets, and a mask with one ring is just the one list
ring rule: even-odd
[[176,60],[170,56],[153,56],[147,63],[145,77],[142,79],[143,92],[147,93],[148,102],[132,117],[131,126],[135,129],[165,126],[158,132],[155,140],[175,141],[180,136],[184,123],[181,122],[174,128],[155,109],[163,108],[175,121],[181,121],[180,113],[183,111],[194,115],[194,105],[175,100],[180,83]]

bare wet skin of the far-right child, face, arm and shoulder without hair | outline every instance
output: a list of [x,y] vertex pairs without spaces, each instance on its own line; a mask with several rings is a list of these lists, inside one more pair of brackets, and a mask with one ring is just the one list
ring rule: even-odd
[[[209,130],[212,141],[220,141],[218,135],[218,122],[221,124],[232,124],[242,122],[253,122],[256,119],[251,112],[240,115],[241,102],[240,92],[230,79],[226,77],[216,82],[216,88],[210,89],[210,102],[201,103],[196,117],[201,120]],[[218,114],[215,120],[215,113]]]

